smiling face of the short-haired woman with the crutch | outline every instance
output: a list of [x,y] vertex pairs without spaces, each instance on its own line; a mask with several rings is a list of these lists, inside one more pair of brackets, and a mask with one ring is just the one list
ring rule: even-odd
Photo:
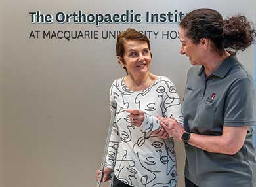
[[124,42],[123,58],[117,56],[119,63],[124,65],[130,76],[142,76],[149,72],[151,54],[146,42],[128,40]]

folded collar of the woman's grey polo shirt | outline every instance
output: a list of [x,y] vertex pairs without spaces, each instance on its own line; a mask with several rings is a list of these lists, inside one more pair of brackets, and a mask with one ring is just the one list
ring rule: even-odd
[[[211,74],[214,76],[218,76],[219,78],[224,78],[228,71],[234,66],[239,63],[238,59],[236,58],[235,55],[230,55],[228,58],[226,58],[221,65]],[[198,75],[201,76],[202,73],[204,73],[204,67],[200,68],[198,71]]]

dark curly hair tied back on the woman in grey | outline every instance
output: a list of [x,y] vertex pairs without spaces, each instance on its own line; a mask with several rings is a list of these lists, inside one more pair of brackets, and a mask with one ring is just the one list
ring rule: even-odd
[[186,14],[180,27],[195,44],[202,38],[213,42],[213,50],[222,54],[225,49],[237,52],[245,50],[255,41],[255,27],[245,16],[226,18],[213,9],[197,9]]

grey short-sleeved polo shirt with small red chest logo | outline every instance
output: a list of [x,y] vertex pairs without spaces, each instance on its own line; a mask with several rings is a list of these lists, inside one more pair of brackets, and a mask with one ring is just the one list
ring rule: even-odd
[[182,112],[184,128],[191,133],[219,136],[223,126],[249,126],[244,145],[232,156],[186,145],[186,178],[200,187],[256,187],[255,90],[236,56],[207,78],[203,66],[189,69]]

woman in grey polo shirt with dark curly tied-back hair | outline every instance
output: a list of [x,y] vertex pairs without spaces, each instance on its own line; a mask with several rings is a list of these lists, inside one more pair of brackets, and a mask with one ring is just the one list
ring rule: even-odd
[[235,56],[254,42],[253,24],[245,16],[223,20],[215,10],[198,9],[181,21],[179,35],[181,54],[193,65],[184,126],[159,119],[171,137],[185,142],[186,186],[255,187],[254,83]]

